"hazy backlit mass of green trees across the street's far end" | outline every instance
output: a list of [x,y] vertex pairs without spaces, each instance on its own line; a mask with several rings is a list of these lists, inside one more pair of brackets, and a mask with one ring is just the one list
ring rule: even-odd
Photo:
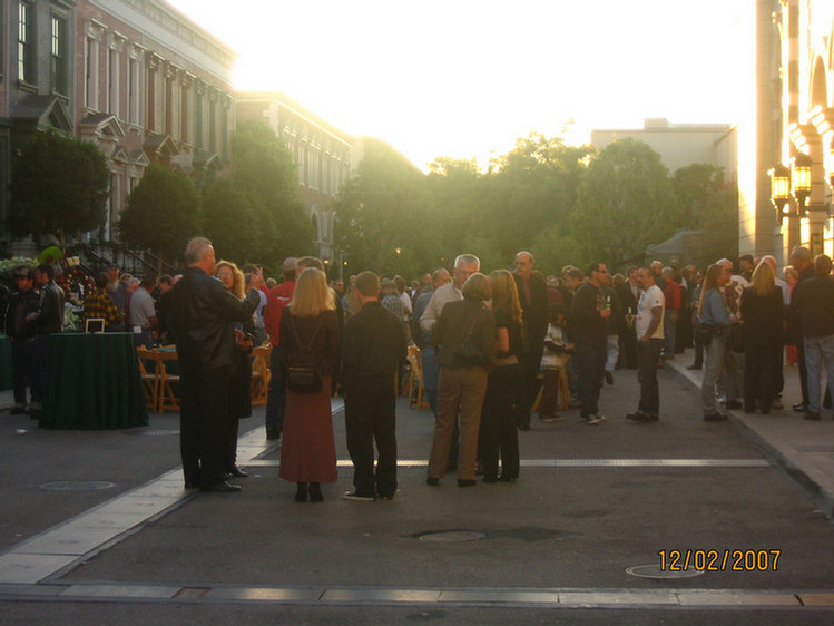
[[737,246],[736,190],[720,170],[690,166],[673,178],[660,156],[634,139],[597,150],[533,133],[487,173],[439,157],[426,175],[369,143],[336,211],[337,244],[352,272],[416,276],[449,267],[463,252],[490,272],[529,250],[539,270],[556,273],[567,264],[616,264],[680,228],[704,231],[712,258]]

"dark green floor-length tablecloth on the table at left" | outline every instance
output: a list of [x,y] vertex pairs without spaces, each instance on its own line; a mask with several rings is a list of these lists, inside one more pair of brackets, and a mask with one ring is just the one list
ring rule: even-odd
[[147,424],[133,333],[49,336],[41,428],[100,430]]

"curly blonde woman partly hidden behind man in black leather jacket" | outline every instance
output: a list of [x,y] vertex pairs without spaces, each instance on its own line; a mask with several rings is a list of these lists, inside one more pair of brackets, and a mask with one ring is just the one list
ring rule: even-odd
[[[219,278],[235,297],[243,300],[246,294],[243,272],[230,261],[219,261],[214,275]],[[256,335],[255,321],[235,322],[235,351],[229,371],[228,431],[226,432],[226,473],[229,477],[246,478],[247,472],[237,467],[238,420],[252,417],[249,379],[252,378],[252,343]]]

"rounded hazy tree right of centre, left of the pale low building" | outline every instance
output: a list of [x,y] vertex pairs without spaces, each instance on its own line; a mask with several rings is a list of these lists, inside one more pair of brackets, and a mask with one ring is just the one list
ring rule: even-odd
[[642,141],[625,138],[591,158],[569,232],[586,258],[617,263],[668,238],[679,228],[680,217],[660,155]]

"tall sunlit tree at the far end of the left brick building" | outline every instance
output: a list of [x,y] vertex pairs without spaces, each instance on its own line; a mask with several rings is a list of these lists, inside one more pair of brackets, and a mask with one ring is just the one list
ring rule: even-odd
[[[298,199],[293,155],[265,124],[238,124],[232,138],[232,183],[247,198],[259,233],[249,260],[279,267],[285,256],[313,252],[313,225]],[[232,217],[233,223],[241,219]]]

